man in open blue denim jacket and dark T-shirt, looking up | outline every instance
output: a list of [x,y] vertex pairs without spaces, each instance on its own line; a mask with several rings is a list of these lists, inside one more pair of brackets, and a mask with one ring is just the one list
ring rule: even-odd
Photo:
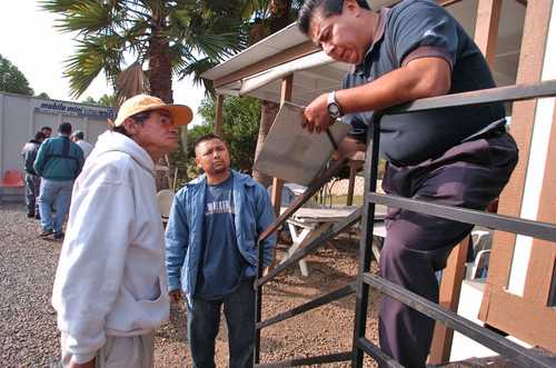
[[[261,185],[230,169],[228,147],[219,137],[199,138],[195,152],[205,175],[173,200],[166,231],[168,290],[173,301],[186,294],[193,368],[215,367],[222,305],[229,366],[252,367],[257,239],[275,219],[272,207]],[[265,266],[275,242],[272,236],[260,245]]]

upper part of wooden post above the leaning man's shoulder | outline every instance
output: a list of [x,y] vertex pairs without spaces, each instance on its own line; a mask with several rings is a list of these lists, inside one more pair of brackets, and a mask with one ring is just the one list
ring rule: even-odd
[[496,56],[500,12],[502,0],[479,0],[477,4],[475,43],[483,51],[490,68],[494,68],[494,58]]

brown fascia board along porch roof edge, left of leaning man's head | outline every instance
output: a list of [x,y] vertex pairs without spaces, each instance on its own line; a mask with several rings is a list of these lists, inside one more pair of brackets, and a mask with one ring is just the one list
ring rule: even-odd
[[311,41],[306,41],[304,43],[299,43],[294,47],[290,47],[289,49],[280,51],[279,53],[272,54],[266,59],[257,61],[235,72],[231,72],[226,77],[216,79],[214,81],[214,86],[215,88],[220,88],[234,81],[256,74],[260,71],[265,71],[272,67],[282,64],[285,62],[299,59],[301,57],[305,57],[306,54],[314,53],[317,51],[320,51],[320,49],[315,43],[312,43]]

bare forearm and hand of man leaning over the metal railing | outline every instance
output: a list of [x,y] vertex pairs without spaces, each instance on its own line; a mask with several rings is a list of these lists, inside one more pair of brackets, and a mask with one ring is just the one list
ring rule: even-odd
[[[411,60],[377,80],[336,91],[344,113],[378,111],[426,97],[446,95],[451,86],[449,63],[429,57]],[[327,110],[328,93],[321,95],[305,109],[309,131],[322,131],[332,122]]]

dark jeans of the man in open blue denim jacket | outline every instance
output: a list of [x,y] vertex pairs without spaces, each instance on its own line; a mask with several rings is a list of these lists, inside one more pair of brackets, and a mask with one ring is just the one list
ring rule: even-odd
[[254,366],[255,289],[254,279],[241,282],[232,294],[219,300],[191,298],[187,308],[187,334],[193,368],[215,368],[215,340],[220,326],[220,308],[228,325],[230,368]]

